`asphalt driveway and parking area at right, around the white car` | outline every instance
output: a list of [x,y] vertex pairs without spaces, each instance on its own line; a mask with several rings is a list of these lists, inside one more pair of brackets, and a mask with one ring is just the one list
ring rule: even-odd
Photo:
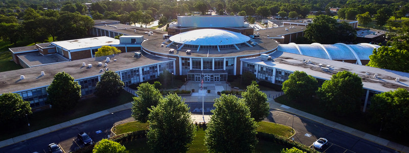
[[396,150],[389,147],[373,143],[303,117],[294,116],[293,114],[278,110],[271,110],[271,112],[272,114],[270,114],[266,120],[293,126],[296,130],[296,135],[292,137],[294,141],[312,147],[312,143],[317,138],[326,138],[329,144],[320,149],[319,151],[321,152],[396,152]]

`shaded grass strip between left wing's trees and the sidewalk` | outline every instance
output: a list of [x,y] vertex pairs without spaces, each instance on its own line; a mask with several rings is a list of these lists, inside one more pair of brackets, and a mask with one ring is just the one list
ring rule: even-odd
[[[119,97],[115,99],[107,99],[101,97],[90,97],[79,101],[73,110],[61,112],[59,110],[48,109],[29,115],[31,131],[37,131],[45,127],[49,127],[58,123],[66,122],[85,115],[93,114],[112,107],[131,102],[133,95],[123,91]],[[2,135],[0,141],[22,134],[29,133],[27,121],[25,119],[15,122],[13,124],[6,124],[0,126]]]

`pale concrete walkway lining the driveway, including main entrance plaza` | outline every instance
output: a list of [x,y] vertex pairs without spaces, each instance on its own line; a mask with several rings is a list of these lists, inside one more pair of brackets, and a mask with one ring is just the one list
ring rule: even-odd
[[[224,83],[224,82],[205,83],[205,84],[203,84],[203,87],[204,87],[204,89],[200,90],[200,82],[194,82],[194,81],[189,81],[189,82],[187,82],[187,84],[183,85],[180,89],[183,89],[183,90],[184,89],[187,89],[187,90],[195,89],[195,92],[192,93],[191,96],[182,96],[183,98],[186,99],[185,102],[200,102],[200,101],[202,101],[202,97],[204,97],[204,100],[203,100],[204,102],[214,102],[213,99],[219,97],[219,95],[217,95],[217,91],[222,91],[222,90],[225,90],[225,89],[232,90],[232,88],[230,86],[226,85],[226,83]],[[210,93],[207,93],[208,89],[211,90]],[[134,90],[132,90],[130,88],[126,88],[125,90],[127,90],[128,92],[134,94]],[[239,89],[233,89],[233,90],[239,90]],[[389,140],[382,139],[382,138],[379,138],[377,136],[370,135],[370,134],[367,134],[367,133],[352,129],[351,127],[348,127],[348,126],[345,126],[345,125],[342,125],[342,124],[338,124],[336,122],[333,122],[333,121],[330,121],[330,120],[327,120],[327,119],[324,119],[324,118],[321,118],[321,117],[318,117],[318,116],[315,116],[315,115],[311,115],[311,114],[308,114],[306,112],[303,112],[303,111],[300,111],[300,110],[297,110],[297,109],[293,109],[293,108],[290,108],[288,106],[281,105],[279,103],[276,103],[276,101],[274,101],[274,98],[282,95],[283,94],[282,92],[277,92],[277,91],[264,91],[264,92],[267,94],[270,109],[276,109],[276,110],[281,110],[281,111],[286,111],[286,112],[289,112],[289,113],[292,113],[292,114],[296,114],[298,116],[302,116],[302,117],[311,119],[313,121],[322,123],[324,125],[333,127],[334,129],[338,129],[340,131],[350,133],[350,134],[358,136],[360,138],[367,139],[369,141],[372,141],[372,142],[375,142],[375,143],[378,143],[378,144],[381,144],[381,145],[384,145],[384,146],[388,146],[388,147],[396,149],[398,151],[409,152],[409,147],[406,147],[404,145],[401,145],[401,144],[398,144],[398,143],[395,143],[395,142],[391,142]],[[87,116],[84,116],[84,117],[81,117],[81,118],[73,119],[73,120],[63,122],[63,123],[60,123],[60,124],[57,124],[57,125],[54,125],[54,126],[50,126],[50,127],[38,130],[38,131],[34,131],[34,132],[31,132],[31,133],[28,133],[28,134],[25,134],[25,135],[21,135],[21,136],[18,136],[18,137],[14,137],[14,138],[11,138],[11,139],[0,141],[0,147],[4,147],[4,146],[10,145],[10,144],[14,144],[14,143],[17,143],[17,142],[20,142],[20,141],[24,141],[24,140],[27,140],[27,139],[31,139],[31,138],[40,136],[40,135],[43,135],[43,134],[46,134],[46,133],[50,133],[50,132],[53,132],[53,131],[56,131],[56,130],[59,130],[59,129],[63,129],[63,128],[69,127],[71,125],[78,124],[80,122],[93,120],[95,118],[111,114],[113,112],[130,109],[131,107],[132,107],[131,103],[124,104],[124,105],[117,106],[117,107],[114,107],[114,108],[111,108],[111,109],[107,109],[107,110],[100,111],[100,112],[97,112],[97,113],[94,113],[94,114],[90,114],[90,115],[87,115]],[[204,118],[205,118],[205,121],[208,122],[209,119],[210,119],[210,115],[205,115]],[[201,122],[201,121],[203,121],[203,116],[195,114],[195,115],[192,115],[192,119],[193,119],[193,121]]]

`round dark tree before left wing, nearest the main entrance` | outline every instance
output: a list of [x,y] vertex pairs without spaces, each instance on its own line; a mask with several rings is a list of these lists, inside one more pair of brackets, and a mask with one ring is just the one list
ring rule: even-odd
[[108,70],[101,75],[101,80],[95,88],[97,90],[95,94],[101,97],[116,97],[121,94],[124,86],[125,84],[121,81],[119,74]]

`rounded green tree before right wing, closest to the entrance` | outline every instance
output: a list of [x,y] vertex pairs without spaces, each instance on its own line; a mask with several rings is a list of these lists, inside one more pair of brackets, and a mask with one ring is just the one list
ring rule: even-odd
[[304,71],[294,71],[284,81],[282,90],[288,99],[304,100],[311,98],[318,89],[318,81]]

